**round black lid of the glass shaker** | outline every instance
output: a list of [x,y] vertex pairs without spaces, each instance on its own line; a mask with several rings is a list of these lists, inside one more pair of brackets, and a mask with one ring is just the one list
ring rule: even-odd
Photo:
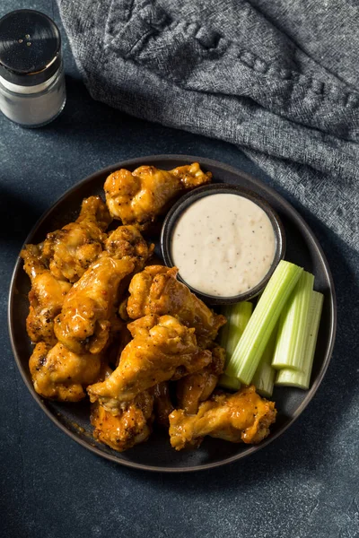
[[47,81],[61,64],[61,37],[55,22],[31,9],[0,19],[0,75],[13,84]]

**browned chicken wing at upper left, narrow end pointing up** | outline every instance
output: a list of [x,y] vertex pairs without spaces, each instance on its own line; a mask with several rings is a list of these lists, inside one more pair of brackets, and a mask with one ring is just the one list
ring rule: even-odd
[[48,233],[43,256],[57,280],[76,282],[102,252],[111,217],[100,196],[83,200],[81,213],[61,230]]

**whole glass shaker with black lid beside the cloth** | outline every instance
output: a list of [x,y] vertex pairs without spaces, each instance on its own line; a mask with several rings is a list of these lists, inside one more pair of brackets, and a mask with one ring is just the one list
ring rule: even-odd
[[61,37],[44,13],[21,9],[0,19],[0,110],[24,127],[55,119],[66,102]]

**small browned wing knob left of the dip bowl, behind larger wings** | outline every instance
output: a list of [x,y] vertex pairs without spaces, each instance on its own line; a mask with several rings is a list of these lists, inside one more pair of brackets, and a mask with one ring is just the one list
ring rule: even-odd
[[154,245],[148,245],[136,226],[118,226],[105,241],[105,250],[109,256],[121,259],[130,258],[135,264],[135,271],[142,271],[147,259],[153,253]]

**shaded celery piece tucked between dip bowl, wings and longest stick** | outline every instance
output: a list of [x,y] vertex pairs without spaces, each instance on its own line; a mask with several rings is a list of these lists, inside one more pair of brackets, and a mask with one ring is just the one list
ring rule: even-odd
[[250,321],[252,309],[252,303],[246,301],[222,308],[222,314],[227,318],[227,323],[223,325],[221,330],[219,344],[225,349],[227,360],[232,357],[233,351]]

